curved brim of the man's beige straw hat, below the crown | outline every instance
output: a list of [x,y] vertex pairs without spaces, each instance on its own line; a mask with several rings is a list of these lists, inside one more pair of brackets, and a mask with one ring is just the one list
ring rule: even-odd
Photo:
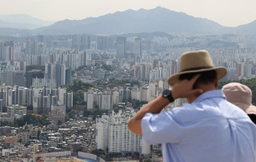
[[218,66],[215,68],[204,68],[204,69],[199,69],[199,70],[183,71],[183,72],[179,72],[179,73],[174,74],[171,77],[169,77],[168,84],[171,86],[175,85],[175,83],[180,80],[179,79],[180,75],[189,74],[189,73],[199,73],[199,72],[205,72],[205,71],[210,71],[210,70],[216,71],[218,80],[225,77],[225,75],[227,75],[227,73],[228,73],[228,70],[224,66]]

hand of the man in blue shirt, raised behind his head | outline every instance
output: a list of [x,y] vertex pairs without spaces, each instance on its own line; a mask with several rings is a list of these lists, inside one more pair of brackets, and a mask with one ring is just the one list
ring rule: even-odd
[[197,78],[200,74],[192,77],[191,80],[180,80],[175,85],[171,87],[172,96],[174,99],[178,98],[187,98],[193,95],[198,95],[203,93],[202,89],[193,89],[194,82],[196,82]]

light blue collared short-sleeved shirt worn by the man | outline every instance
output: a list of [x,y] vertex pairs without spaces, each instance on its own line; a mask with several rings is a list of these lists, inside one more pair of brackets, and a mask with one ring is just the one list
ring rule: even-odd
[[164,162],[254,162],[256,125],[221,90],[141,122],[149,144],[163,144]]

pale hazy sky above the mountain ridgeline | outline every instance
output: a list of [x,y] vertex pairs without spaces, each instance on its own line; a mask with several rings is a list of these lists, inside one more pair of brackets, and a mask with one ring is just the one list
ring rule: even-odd
[[79,20],[127,9],[152,9],[159,4],[223,26],[256,20],[256,0],[0,0],[0,14],[29,14],[48,21]]

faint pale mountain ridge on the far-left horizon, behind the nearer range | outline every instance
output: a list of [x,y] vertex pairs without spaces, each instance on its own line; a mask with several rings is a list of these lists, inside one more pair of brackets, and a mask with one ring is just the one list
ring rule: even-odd
[[0,14],[0,28],[35,29],[52,25],[53,21],[44,21],[27,14]]

